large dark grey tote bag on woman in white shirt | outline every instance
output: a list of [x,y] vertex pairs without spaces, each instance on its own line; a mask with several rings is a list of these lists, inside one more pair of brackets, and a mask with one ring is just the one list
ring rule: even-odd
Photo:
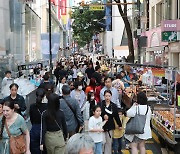
[[[125,134],[134,135],[134,134],[143,134],[144,127],[146,123],[146,115],[148,113],[148,106],[145,115],[140,115],[139,106],[136,107],[136,114],[134,117],[131,117],[126,124]],[[138,112],[137,112],[138,110]]]

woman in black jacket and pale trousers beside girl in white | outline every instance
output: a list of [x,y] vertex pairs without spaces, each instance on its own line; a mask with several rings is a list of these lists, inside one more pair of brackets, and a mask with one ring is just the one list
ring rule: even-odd
[[107,120],[107,123],[103,126],[105,131],[104,154],[110,154],[112,153],[112,137],[113,130],[115,129],[114,119],[119,129],[122,129],[122,124],[119,119],[117,106],[111,102],[112,92],[110,90],[105,90],[104,97],[105,100],[101,103],[102,118],[103,120]]

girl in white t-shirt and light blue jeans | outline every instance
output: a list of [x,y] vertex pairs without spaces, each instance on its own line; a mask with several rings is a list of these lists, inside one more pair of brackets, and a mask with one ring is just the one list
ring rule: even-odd
[[103,125],[106,123],[106,120],[103,122],[101,117],[101,108],[99,106],[93,107],[93,116],[89,119],[89,135],[95,142],[95,154],[102,154],[103,148]]

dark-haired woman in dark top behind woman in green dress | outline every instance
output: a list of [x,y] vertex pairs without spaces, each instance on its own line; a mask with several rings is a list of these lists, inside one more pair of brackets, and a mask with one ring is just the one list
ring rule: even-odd
[[11,94],[3,99],[2,104],[6,101],[13,102],[15,111],[22,115],[22,112],[26,110],[26,104],[24,97],[17,93],[19,86],[16,83],[12,83],[9,88]]

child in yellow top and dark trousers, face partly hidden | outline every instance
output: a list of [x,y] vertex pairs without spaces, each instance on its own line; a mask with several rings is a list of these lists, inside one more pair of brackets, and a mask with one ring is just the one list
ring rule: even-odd
[[127,117],[125,117],[121,111],[118,112],[119,118],[122,123],[122,129],[119,129],[119,126],[117,125],[116,121],[115,123],[115,130],[113,132],[113,154],[122,154],[122,138],[125,133],[125,125],[127,123]]

